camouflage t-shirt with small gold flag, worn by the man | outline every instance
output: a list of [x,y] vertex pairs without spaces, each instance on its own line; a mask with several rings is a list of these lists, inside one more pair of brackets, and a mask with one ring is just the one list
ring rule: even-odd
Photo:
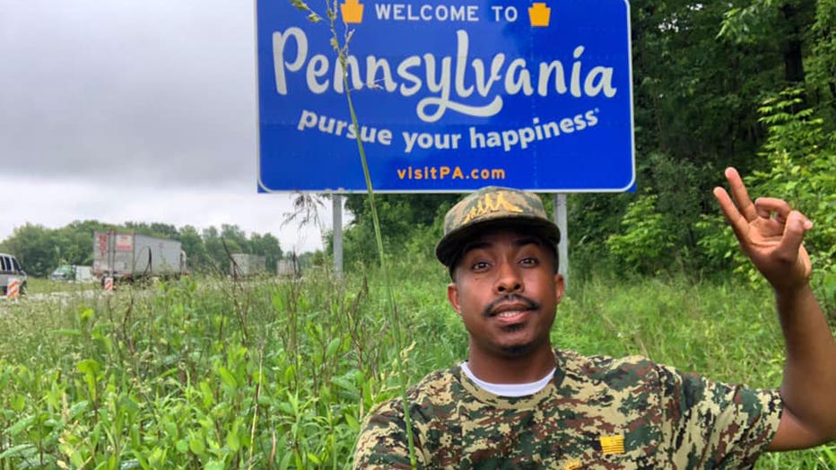
[[[531,396],[495,396],[460,367],[409,390],[419,468],[750,468],[778,430],[774,390],[710,382],[640,357],[556,351]],[[409,468],[403,402],[364,423],[355,468]]]

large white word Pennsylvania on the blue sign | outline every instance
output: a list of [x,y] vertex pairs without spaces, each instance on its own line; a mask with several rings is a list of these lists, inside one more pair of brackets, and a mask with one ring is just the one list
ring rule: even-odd
[[[290,40],[292,39],[292,41]],[[584,67],[581,56],[584,47],[578,46],[572,52],[574,61],[569,76],[559,60],[540,62],[529,68],[525,58],[515,58],[506,65],[503,53],[495,54],[486,65],[481,58],[469,59],[469,38],[466,30],[456,32],[456,56],[435,57],[427,52],[423,55],[405,57],[392,65],[388,59],[365,57],[364,63],[355,56],[346,57],[345,67],[349,86],[352,90],[370,88],[411,97],[423,92],[430,94],[418,101],[415,109],[424,122],[436,122],[448,109],[473,117],[492,117],[502,109],[502,95],[523,93],[531,96],[535,92],[542,97],[551,92],[569,93],[575,98],[597,97],[602,94],[613,98],[613,67],[595,65]],[[288,47],[294,42],[295,48]],[[285,57],[285,51],[295,56]],[[324,54],[308,57],[308,36],[297,27],[273,33],[273,60],[275,89],[280,95],[288,91],[287,73],[304,70],[305,83],[313,93],[325,93],[329,89],[342,93],[343,65],[336,58]],[[454,65],[455,60],[455,65]],[[365,74],[363,74],[365,73]],[[472,76],[472,82],[466,80]],[[424,91],[426,86],[426,91]],[[497,90],[497,88],[500,88]],[[481,102],[473,103],[474,93]],[[421,95],[419,95],[421,96]],[[467,103],[463,100],[467,100]]]

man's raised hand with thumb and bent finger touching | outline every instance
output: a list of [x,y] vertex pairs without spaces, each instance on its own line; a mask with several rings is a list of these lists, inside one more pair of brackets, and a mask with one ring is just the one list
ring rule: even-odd
[[759,197],[753,203],[734,168],[726,169],[726,178],[734,201],[722,187],[714,188],[714,196],[746,256],[776,290],[806,284],[811,265],[802,241],[813,222],[781,199]]

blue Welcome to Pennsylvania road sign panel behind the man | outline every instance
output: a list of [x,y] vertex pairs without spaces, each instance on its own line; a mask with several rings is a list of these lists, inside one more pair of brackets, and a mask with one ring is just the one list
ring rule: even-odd
[[[309,0],[314,11],[326,2]],[[261,192],[624,191],[635,176],[626,0],[257,0]]]

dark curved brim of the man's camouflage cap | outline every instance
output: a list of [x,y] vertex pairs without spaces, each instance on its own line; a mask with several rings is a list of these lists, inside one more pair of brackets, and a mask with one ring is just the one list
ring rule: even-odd
[[485,231],[516,230],[534,235],[556,246],[561,240],[561,232],[553,222],[541,217],[503,217],[474,222],[456,231],[451,231],[439,240],[435,247],[435,257],[442,265],[453,264],[460,256],[466,243]]

